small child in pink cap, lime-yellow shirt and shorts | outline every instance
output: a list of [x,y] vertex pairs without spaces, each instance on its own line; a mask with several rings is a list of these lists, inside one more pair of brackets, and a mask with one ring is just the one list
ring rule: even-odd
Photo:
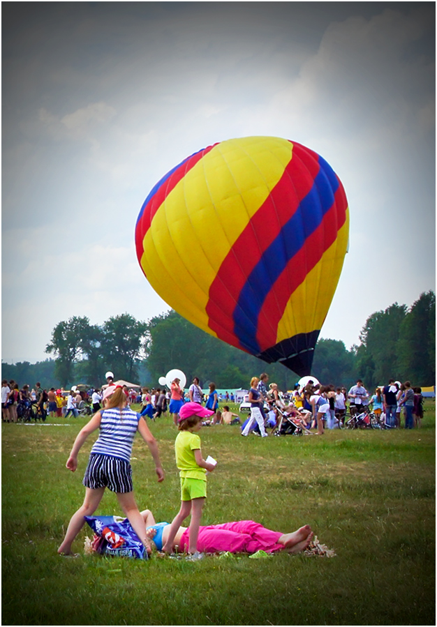
[[202,559],[198,552],[198,535],[202,508],[207,496],[206,471],[212,472],[214,464],[202,458],[200,437],[202,418],[212,416],[214,412],[195,402],[187,402],[179,411],[179,433],[175,441],[176,465],[181,478],[181,508],[170,525],[163,552],[171,553],[173,541],[182,522],[191,513],[188,536],[188,559]]

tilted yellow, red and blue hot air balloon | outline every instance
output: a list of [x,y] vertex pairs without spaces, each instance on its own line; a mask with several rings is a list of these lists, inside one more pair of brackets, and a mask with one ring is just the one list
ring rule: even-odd
[[208,146],[163,176],[135,227],[138,260],[170,307],[267,363],[311,371],[348,247],[341,181],[279,137]]

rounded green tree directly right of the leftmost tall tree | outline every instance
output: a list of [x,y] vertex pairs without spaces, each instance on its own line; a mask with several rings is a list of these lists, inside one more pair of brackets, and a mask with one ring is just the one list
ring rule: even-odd
[[[101,349],[105,368],[115,379],[138,378],[137,362],[146,339],[147,324],[128,313],[112,316],[103,324]],[[135,383],[135,382],[134,382]]]

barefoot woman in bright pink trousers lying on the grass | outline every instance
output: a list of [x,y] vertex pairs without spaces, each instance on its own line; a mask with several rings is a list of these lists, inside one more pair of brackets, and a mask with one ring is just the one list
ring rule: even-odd
[[[153,540],[156,549],[162,550],[170,531],[168,522],[155,522],[150,510],[141,512],[147,527],[147,537]],[[238,520],[237,522],[223,522],[200,527],[198,536],[198,551],[215,553],[229,551],[230,553],[255,553],[263,550],[267,553],[285,550],[288,553],[299,553],[308,547],[313,538],[309,524],[300,527],[291,534],[281,534],[280,531],[270,531],[253,520]],[[185,552],[188,548],[188,528],[179,527],[172,543],[173,550]]]

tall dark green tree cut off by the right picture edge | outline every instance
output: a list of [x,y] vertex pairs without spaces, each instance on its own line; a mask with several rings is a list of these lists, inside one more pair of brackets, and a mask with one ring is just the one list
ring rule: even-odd
[[397,368],[401,379],[413,385],[436,382],[436,294],[427,292],[413,303],[401,322],[397,342]]

